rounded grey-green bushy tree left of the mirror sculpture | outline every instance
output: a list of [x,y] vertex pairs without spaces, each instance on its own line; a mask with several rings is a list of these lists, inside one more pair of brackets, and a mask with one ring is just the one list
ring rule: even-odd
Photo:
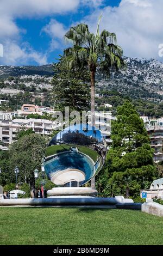
[[21,181],[34,182],[34,170],[40,169],[42,158],[47,147],[47,138],[32,133],[25,135],[11,144],[9,149],[10,173],[14,178],[14,169],[17,166],[20,169]]

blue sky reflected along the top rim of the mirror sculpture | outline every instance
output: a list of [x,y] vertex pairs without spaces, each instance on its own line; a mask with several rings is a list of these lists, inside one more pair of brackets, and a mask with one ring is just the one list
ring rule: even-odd
[[97,130],[95,127],[92,127],[91,125],[86,124],[77,124],[66,127],[64,130],[59,132],[57,134],[57,137],[55,137],[57,140],[62,137],[65,133],[68,131],[76,132],[79,131],[79,133],[83,133],[84,135],[88,137],[93,137],[98,140],[98,142],[103,142],[103,136],[101,135],[101,131]]

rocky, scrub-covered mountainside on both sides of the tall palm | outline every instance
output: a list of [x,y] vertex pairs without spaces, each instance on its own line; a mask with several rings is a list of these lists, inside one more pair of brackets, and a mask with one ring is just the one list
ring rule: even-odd
[[[163,116],[163,64],[158,60],[126,58],[127,67],[109,78],[96,76],[97,105],[109,103],[115,109],[131,99],[140,114]],[[22,103],[54,104],[53,65],[0,66],[0,99],[14,109]]]

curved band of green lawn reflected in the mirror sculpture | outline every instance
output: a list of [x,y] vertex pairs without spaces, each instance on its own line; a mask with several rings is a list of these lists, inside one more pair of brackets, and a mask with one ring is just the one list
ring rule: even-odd
[[54,155],[54,154],[57,154],[60,152],[68,151],[71,149],[72,146],[77,147],[80,152],[90,156],[91,159],[94,162],[96,162],[98,153],[90,148],[87,148],[84,146],[79,146],[79,145],[65,145],[65,144],[53,145],[46,149],[45,156],[47,157],[47,156],[51,156],[51,155]]

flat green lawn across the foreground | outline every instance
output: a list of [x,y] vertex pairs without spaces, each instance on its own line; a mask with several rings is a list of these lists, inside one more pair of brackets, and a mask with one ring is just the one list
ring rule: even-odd
[[133,210],[0,208],[0,245],[163,245],[162,225]]

